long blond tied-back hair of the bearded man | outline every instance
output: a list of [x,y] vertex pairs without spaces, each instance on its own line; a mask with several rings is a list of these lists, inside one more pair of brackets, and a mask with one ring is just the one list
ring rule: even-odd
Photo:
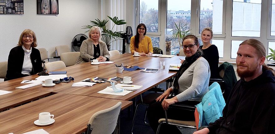
[[[257,52],[257,55],[259,58],[266,56],[266,49],[261,41],[258,41],[256,39],[248,39],[248,40],[243,41],[240,45],[250,45],[250,46],[254,47],[256,49],[256,52]],[[274,69],[268,67],[265,63],[262,65],[262,67],[264,69],[270,70],[272,72],[273,76],[275,76]]]

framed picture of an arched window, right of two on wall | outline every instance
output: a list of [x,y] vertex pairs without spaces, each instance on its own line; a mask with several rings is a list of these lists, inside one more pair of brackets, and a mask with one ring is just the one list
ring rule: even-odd
[[58,0],[37,0],[37,14],[59,14]]

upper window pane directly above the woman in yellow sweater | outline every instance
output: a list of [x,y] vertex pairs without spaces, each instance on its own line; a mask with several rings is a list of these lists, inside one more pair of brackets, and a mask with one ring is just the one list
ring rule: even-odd
[[139,23],[144,23],[147,32],[158,32],[158,0],[139,1]]

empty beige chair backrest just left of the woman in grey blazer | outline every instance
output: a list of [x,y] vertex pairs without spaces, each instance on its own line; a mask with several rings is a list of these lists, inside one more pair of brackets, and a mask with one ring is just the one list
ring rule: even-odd
[[61,61],[67,66],[75,65],[76,60],[79,58],[80,52],[67,52],[60,55]]

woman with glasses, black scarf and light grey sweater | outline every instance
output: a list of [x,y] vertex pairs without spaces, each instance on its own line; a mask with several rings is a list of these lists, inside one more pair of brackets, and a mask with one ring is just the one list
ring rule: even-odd
[[[189,99],[201,100],[209,91],[210,68],[208,62],[202,57],[198,38],[194,35],[185,36],[182,44],[186,58],[175,76],[173,87],[167,89],[148,107],[148,120],[154,132],[157,132],[158,120],[165,117],[164,109],[168,109],[169,105],[178,102],[190,105]],[[170,93],[175,93],[176,96],[169,97]],[[168,109],[168,118],[195,120],[194,111],[173,108]],[[166,126],[166,128],[162,126],[160,132],[181,133],[175,126]]]

